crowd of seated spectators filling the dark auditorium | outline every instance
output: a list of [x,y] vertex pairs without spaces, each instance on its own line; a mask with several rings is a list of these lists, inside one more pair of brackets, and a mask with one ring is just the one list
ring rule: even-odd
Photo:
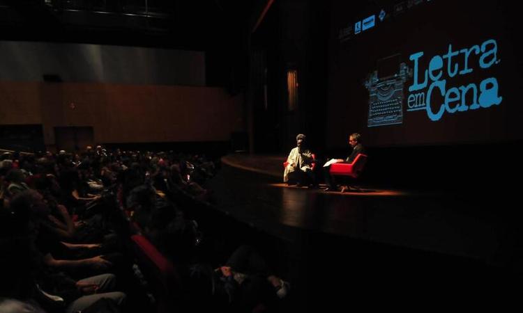
[[[136,278],[133,264],[123,261],[134,259],[121,226],[129,222],[174,264],[188,298],[203,296],[202,286],[193,288],[200,282],[194,268],[209,264],[202,255],[213,251],[198,253],[202,232],[193,218],[195,207],[209,205],[211,193],[203,186],[215,172],[203,155],[172,151],[97,146],[82,154],[2,154],[0,311],[77,312],[110,298],[122,312],[135,312],[116,284],[116,278]],[[261,259],[249,249],[232,259]],[[209,271],[224,283],[225,307],[250,312],[285,296],[287,282],[266,268],[252,270],[229,262]]]

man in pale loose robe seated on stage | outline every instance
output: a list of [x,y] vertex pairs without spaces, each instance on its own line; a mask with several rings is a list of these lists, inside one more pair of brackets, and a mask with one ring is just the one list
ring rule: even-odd
[[286,182],[287,185],[316,186],[313,162],[314,156],[305,145],[305,135],[298,134],[296,136],[296,147],[291,150],[289,157],[287,157],[283,182]]

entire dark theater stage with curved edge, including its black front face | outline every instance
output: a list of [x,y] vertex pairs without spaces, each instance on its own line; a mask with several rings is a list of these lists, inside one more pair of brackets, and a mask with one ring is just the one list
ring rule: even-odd
[[[361,286],[392,275],[429,289],[444,278],[506,277],[504,273],[520,271],[515,265],[520,261],[520,216],[517,210],[494,209],[497,196],[401,190],[370,182],[361,193],[289,187],[281,182],[283,161],[285,156],[227,155],[209,188],[218,209],[287,243],[291,252],[282,253],[290,258],[291,279],[314,281],[315,287],[309,284],[302,296],[319,292],[334,302],[343,297],[332,296],[338,289],[317,286],[333,279],[311,274],[316,266],[333,268],[339,279]],[[470,287],[471,280],[464,281]],[[319,300],[308,301],[321,306]]]

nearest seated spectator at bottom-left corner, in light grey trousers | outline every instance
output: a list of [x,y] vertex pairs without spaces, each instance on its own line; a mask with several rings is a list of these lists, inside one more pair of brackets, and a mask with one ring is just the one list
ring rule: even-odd
[[[86,309],[100,298],[110,298],[122,305],[126,295],[114,292],[115,276],[103,274],[74,280],[47,266],[45,256],[36,250],[38,220],[45,217],[36,191],[23,191],[0,211],[0,248],[10,250],[0,264],[0,291],[9,298],[36,300],[39,305],[18,301],[1,301],[0,312],[24,307],[32,312],[77,312]],[[32,299],[32,300],[31,300]],[[4,310],[5,309],[5,310]],[[22,311],[15,311],[22,312]],[[31,311],[29,311],[31,312]]]

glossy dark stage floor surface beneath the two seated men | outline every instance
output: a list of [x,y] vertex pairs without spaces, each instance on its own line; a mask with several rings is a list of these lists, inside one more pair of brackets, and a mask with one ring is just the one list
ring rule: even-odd
[[[291,239],[296,229],[348,236],[481,262],[501,261],[513,243],[510,214],[497,198],[363,186],[363,192],[325,192],[282,183],[285,156],[232,154],[211,189],[218,207],[266,232]],[[478,198],[480,197],[480,198]],[[491,206],[492,204],[492,206]],[[501,261],[502,262],[502,261]]]

